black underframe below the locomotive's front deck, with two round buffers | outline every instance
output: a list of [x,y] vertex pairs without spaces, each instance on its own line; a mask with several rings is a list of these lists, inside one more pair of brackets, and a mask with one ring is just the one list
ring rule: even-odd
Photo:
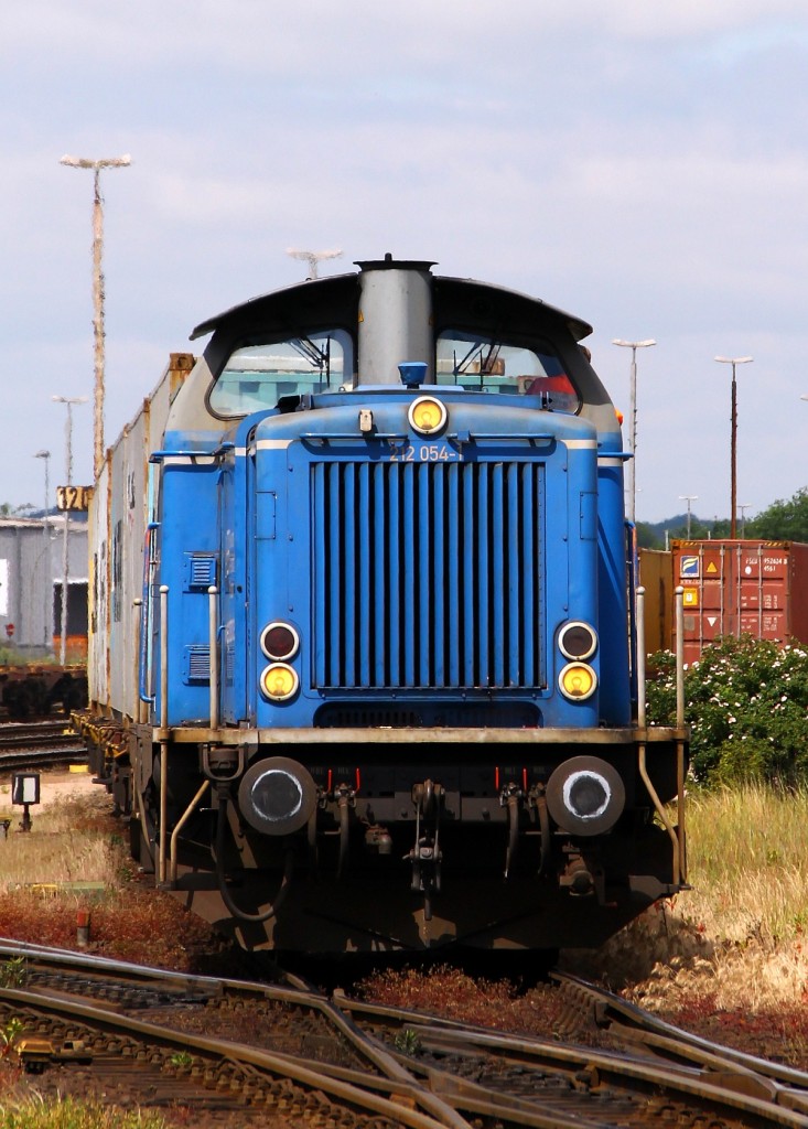
[[[183,771],[175,756],[164,817],[178,833],[164,887],[225,937],[279,954],[597,947],[680,889],[633,745],[604,756],[553,747],[550,763],[537,762],[541,745],[516,745],[517,765],[492,768],[480,746],[453,763],[422,730],[413,737],[406,769],[341,771],[323,747],[304,746],[310,769],[266,755],[244,772],[219,750],[205,758],[201,796],[195,765]],[[653,762],[649,782],[668,803],[675,758]],[[150,873],[159,759],[153,774],[146,811],[129,816],[133,855]],[[107,782],[125,807],[126,789],[115,774]]]

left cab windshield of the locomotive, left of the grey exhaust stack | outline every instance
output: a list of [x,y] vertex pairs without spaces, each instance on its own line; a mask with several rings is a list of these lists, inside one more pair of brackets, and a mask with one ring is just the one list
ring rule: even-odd
[[281,396],[336,390],[352,379],[353,349],[344,330],[324,330],[236,349],[208,394],[212,412],[248,415],[274,408]]

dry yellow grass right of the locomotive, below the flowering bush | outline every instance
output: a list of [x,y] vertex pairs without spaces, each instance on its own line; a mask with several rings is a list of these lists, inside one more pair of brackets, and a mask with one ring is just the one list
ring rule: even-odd
[[[766,1014],[808,1045],[808,793],[750,786],[688,806],[692,889],[596,954],[565,954],[667,1017]],[[799,1036],[794,1035],[799,1032]]]

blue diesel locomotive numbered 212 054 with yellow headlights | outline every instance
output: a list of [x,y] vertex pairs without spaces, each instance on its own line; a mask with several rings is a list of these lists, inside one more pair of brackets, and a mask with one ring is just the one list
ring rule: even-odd
[[597,946],[685,882],[687,732],[644,725],[591,329],[357,265],[197,326],[107,452],[93,769],[247,948]]

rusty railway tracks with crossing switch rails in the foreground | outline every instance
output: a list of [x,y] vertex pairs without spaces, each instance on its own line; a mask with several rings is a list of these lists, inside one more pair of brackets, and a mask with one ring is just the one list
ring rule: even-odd
[[808,1075],[569,977],[556,977],[554,1040],[328,998],[301,981],[167,973],[14,942],[0,943],[0,1030],[23,1025],[21,1060],[45,1071],[37,1086],[53,1074],[64,1092],[72,1076],[130,1102],[179,1103],[200,1127],[226,1111],[244,1127],[808,1127]]

